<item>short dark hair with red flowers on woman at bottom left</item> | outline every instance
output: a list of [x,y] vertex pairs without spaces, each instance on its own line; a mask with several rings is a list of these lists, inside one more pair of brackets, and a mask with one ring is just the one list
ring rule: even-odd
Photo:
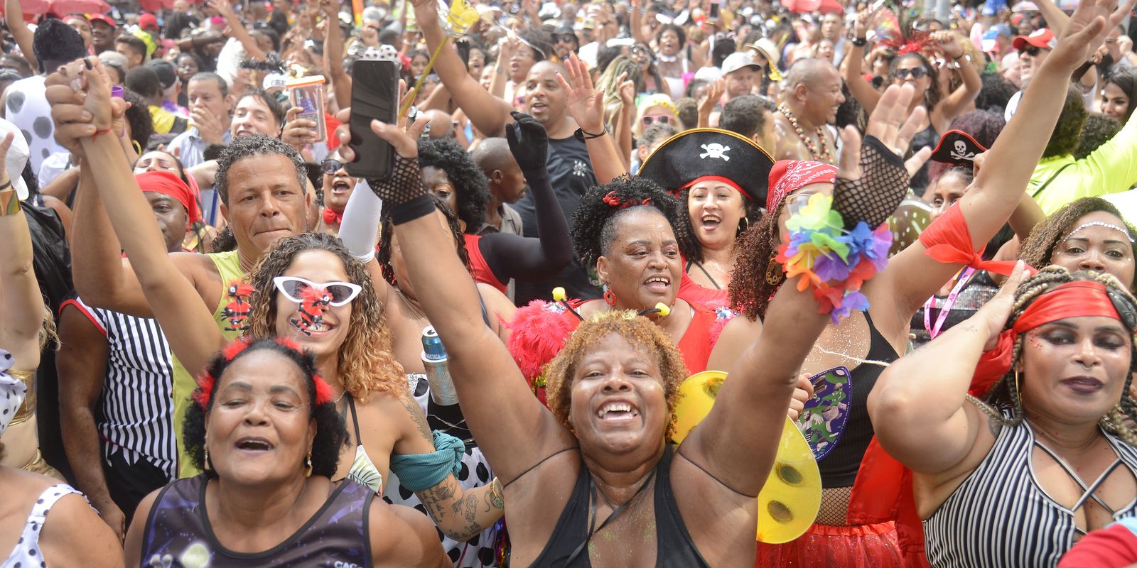
[[[234,349],[234,344],[248,346]],[[340,449],[348,443],[348,431],[343,421],[340,420],[340,414],[335,410],[334,402],[318,406],[315,403],[316,377],[319,376],[316,357],[307,350],[301,351],[294,343],[279,337],[236,340],[209,360],[202,373],[202,378],[198,379],[198,387],[193,391],[194,402],[185,409],[185,428],[182,431],[182,442],[185,444],[185,452],[189,454],[190,461],[194,467],[205,471],[210,479],[217,478],[217,471],[214,470],[213,463],[206,463],[206,415],[213,409],[214,394],[221,386],[222,377],[229,366],[256,351],[277,353],[300,369],[305,386],[307,386],[305,394],[308,396],[308,412],[316,420],[316,438],[312,443],[312,474],[333,477],[340,461]],[[204,387],[208,387],[208,392]],[[206,401],[204,407],[201,400]],[[297,463],[297,466],[304,468],[305,463]]]

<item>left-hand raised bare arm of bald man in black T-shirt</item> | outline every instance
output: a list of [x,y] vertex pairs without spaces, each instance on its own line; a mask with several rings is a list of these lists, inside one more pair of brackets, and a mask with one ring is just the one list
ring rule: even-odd
[[[438,20],[438,8],[434,0],[415,0],[415,18],[426,37],[426,47],[433,53],[446,40],[446,33]],[[503,61],[498,60],[500,65]],[[474,126],[487,136],[500,136],[505,124],[509,120],[512,107],[508,102],[493,97],[470,76],[462,58],[453,47],[446,45],[434,61],[434,73],[450,91],[454,102],[466,112]]]

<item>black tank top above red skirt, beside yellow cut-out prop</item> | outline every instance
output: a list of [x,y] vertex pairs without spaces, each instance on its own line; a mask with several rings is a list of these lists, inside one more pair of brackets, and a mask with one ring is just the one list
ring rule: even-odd
[[[870,361],[893,362],[899,359],[896,350],[888,343],[883,335],[872,325],[869,312],[864,312],[864,320],[869,324],[869,354],[864,358]],[[853,383],[853,400],[849,402],[849,420],[845,425],[845,433],[841,441],[828,456],[818,462],[821,470],[821,486],[852,487],[856,481],[856,473],[861,468],[861,460],[872,441],[872,420],[869,419],[869,393],[877,384],[877,377],[885,370],[880,365],[863,362],[849,371]]]

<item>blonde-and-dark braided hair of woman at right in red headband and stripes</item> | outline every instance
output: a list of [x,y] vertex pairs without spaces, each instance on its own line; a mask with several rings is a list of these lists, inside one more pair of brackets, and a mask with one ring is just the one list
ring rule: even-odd
[[[1014,326],[1015,321],[1022,316],[1027,307],[1029,307],[1035,300],[1037,300],[1043,294],[1054,290],[1062,284],[1069,284],[1071,282],[1088,281],[1097,282],[1105,285],[1106,290],[1112,292],[1110,294],[1110,300],[1117,306],[1118,311],[1134,312],[1137,310],[1135,307],[1134,296],[1129,291],[1124,290],[1118,279],[1111,274],[1097,274],[1097,273],[1086,273],[1077,272],[1071,274],[1069,270],[1061,266],[1051,265],[1038,274],[1027,278],[1014,293],[1014,307],[1011,311],[1011,317],[1007,318],[1006,326],[1004,329],[1010,329]],[[1128,306],[1119,306],[1121,303]],[[1127,323],[1122,318],[1122,325],[1124,325],[1130,333],[1137,331],[1131,321]],[[1022,344],[1026,334],[1020,334],[1014,340],[1014,346],[1011,351],[1011,369],[1007,370],[995,384],[991,385],[990,390],[982,400],[968,395],[976,407],[982,411],[985,415],[990,417],[998,424],[1004,426],[1018,426],[1022,424],[1026,414],[1022,408],[1022,396],[1018,389],[1018,378],[1015,377],[1015,368],[1022,360]],[[1137,433],[1134,433],[1128,426],[1123,424],[1123,418],[1128,417],[1131,420],[1137,420],[1137,407],[1135,407],[1134,399],[1129,394],[1129,386],[1132,382],[1132,374],[1137,371],[1137,345],[1130,342],[1130,359],[1129,359],[1129,371],[1126,373],[1126,384],[1124,389],[1121,391],[1120,402],[1113,407],[1105,416],[1102,417],[1102,427],[1118,437],[1124,440],[1129,444],[1137,445]],[[1010,410],[1011,416],[1006,417],[1003,415],[1003,410]]]

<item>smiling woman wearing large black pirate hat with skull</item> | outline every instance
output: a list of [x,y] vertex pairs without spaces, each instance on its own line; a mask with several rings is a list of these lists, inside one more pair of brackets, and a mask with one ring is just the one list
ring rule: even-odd
[[679,298],[727,306],[739,235],[757,223],[773,159],[746,136],[719,128],[677,134],[648,156],[639,175],[677,193],[697,249],[683,259]]

